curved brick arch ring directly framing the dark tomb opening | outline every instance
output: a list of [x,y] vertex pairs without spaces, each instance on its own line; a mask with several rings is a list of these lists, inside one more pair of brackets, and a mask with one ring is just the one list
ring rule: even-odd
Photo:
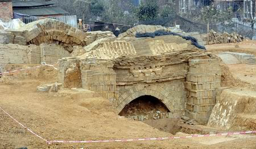
[[126,92],[119,95],[117,100],[117,110],[118,113],[122,111],[122,109],[129,104],[131,101],[139,98],[141,96],[153,96],[158,98],[170,111],[174,111],[174,100],[170,100],[172,95],[168,93],[163,86],[160,85],[150,85],[147,87],[135,86],[133,88],[127,89]]

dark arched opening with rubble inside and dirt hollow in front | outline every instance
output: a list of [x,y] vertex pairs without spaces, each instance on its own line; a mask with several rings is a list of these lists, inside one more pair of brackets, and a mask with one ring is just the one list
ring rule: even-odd
[[141,96],[127,104],[119,115],[142,121],[160,131],[176,134],[180,127],[180,118],[172,118],[170,110],[158,99],[152,96]]

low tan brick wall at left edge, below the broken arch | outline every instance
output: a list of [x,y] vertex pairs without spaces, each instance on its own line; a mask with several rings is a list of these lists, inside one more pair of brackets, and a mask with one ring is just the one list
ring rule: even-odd
[[6,64],[47,64],[56,63],[62,57],[69,56],[69,52],[55,44],[18,45],[0,44],[0,69]]

